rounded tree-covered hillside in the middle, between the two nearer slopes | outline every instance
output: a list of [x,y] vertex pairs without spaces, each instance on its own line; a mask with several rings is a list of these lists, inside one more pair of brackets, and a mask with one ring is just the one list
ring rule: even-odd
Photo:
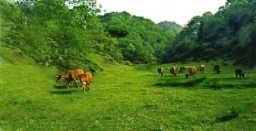
[[104,30],[117,39],[125,60],[133,63],[163,61],[164,49],[172,44],[174,34],[164,31],[152,20],[127,12],[111,12],[100,17]]

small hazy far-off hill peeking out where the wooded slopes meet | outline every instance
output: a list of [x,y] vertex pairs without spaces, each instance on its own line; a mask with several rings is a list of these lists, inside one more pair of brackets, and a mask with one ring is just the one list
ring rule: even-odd
[[163,27],[166,31],[173,31],[175,34],[178,34],[182,30],[182,26],[175,22],[163,21],[159,22],[157,25]]

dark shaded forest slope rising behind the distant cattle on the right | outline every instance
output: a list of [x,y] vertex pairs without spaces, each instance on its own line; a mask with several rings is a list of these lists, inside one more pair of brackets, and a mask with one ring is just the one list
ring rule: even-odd
[[255,65],[256,1],[228,0],[215,14],[193,17],[167,52],[170,61],[226,57]]

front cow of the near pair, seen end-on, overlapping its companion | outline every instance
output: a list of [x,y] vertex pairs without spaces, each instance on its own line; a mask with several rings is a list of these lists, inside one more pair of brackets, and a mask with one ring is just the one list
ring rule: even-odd
[[92,82],[92,73],[85,72],[83,75],[79,75],[81,82],[83,83],[83,92],[84,92],[84,85],[86,84],[86,91],[90,91],[91,89],[91,82]]

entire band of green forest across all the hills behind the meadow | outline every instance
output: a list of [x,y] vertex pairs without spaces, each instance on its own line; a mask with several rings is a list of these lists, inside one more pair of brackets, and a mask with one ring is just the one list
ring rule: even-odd
[[[228,0],[185,27],[132,16],[99,15],[96,0],[0,0],[0,45],[19,48],[45,66],[102,70],[88,54],[120,63],[226,57],[256,63],[256,1]],[[170,12],[172,13],[172,12]]]

